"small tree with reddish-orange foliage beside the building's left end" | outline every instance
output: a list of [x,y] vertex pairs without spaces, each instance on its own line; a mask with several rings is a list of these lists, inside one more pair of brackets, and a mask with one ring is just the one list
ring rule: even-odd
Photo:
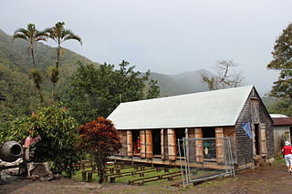
[[120,137],[113,123],[104,117],[98,117],[78,128],[79,148],[89,153],[97,164],[99,183],[104,181],[105,168],[110,156],[119,152]]

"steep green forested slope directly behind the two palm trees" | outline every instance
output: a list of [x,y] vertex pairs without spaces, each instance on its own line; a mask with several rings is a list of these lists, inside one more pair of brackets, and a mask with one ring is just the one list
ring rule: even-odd
[[[34,97],[37,95],[36,89],[28,78],[28,72],[33,67],[28,46],[29,44],[24,40],[16,39],[13,43],[12,36],[0,30],[0,91],[7,98],[5,102],[0,102],[2,116],[29,114],[37,107],[38,99]],[[42,91],[45,99],[49,101],[51,83],[46,75],[48,66],[56,64],[56,48],[36,43],[35,56],[36,66],[45,77]],[[78,67],[78,61],[98,66],[88,58],[64,49],[60,57],[60,80],[57,84],[57,94],[67,77]]]

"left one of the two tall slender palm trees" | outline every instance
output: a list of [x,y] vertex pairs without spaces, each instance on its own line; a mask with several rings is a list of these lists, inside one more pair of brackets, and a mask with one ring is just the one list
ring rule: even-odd
[[47,41],[47,33],[45,31],[38,31],[36,30],[36,26],[34,24],[28,24],[26,29],[25,28],[19,28],[15,31],[14,36],[12,36],[12,41],[14,42],[16,38],[24,39],[26,40],[30,46],[30,52],[33,59],[33,66],[34,69],[31,70],[29,73],[29,77],[33,79],[34,84],[38,90],[39,97],[40,97],[40,103],[44,103],[43,95],[40,91],[40,84],[42,82],[42,76],[38,69],[36,68],[36,61],[35,61],[35,54],[34,54],[34,44],[39,41]]

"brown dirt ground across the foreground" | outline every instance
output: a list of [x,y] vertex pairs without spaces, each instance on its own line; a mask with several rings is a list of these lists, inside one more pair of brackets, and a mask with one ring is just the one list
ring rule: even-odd
[[172,187],[179,182],[165,182],[157,186],[130,186],[121,183],[105,183],[102,189],[95,189],[96,183],[77,182],[72,179],[40,182],[16,180],[10,184],[0,185],[0,193],[21,194],[80,194],[80,193],[292,193],[292,173],[283,165],[273,165],[255,169],[245,169],[235,178],[214,179],[202,184],[182,189]]

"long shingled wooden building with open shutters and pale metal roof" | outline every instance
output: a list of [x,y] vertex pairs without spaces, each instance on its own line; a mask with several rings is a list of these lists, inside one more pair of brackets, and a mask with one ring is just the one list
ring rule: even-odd
[[[273,121],[252,86],[121,103],[108,118],[122,142],[118,159],[179,165],[178,138],[223,137],[232,139],[237,168],[274,159]],[[242,128],[246,122],[251,138]],[[216,140],[217,163],[222,161],[221,149],[222,142]],[[195,148],[193,160],[205,159],[203,147]]]

